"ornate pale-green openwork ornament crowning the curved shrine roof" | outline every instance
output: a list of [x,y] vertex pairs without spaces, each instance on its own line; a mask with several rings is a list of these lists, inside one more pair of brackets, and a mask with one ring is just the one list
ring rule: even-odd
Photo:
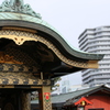
[[33,11],[30,4],[24,4],[23,0],[4,0],[0,6],[0,12],[25,13],[42,19],[40,13]]

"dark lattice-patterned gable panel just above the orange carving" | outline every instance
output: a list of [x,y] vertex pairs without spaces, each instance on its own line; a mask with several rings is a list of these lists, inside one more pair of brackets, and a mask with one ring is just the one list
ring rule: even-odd
[[28,54],[30,48],[25,48],[25,47],[20,47],[18,45],[8,45],[6,46],[6,48],[3,50],[4,55],[9,55],[9,56],[13,56],[13,58],[20,63],[22,63],[25,66],[34,66],[35,68],[38,69],[38,64],[36,63],[36,61],[33,59],[33,57],[31,57],[31,52],[30,55]]

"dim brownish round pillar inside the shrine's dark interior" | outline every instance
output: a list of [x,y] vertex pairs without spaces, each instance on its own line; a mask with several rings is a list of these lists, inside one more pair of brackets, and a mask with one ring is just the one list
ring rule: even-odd
[[31,99],[29,92],[21,92],[21,109],[22,110],[31,110]]

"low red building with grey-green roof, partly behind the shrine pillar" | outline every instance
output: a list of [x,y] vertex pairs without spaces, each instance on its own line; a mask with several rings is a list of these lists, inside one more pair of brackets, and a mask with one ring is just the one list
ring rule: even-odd
[[[110,88],[96,86],[52,96],[52,110],[110,110]],[[31,110],[38,109],[38,100],[31,101]]]

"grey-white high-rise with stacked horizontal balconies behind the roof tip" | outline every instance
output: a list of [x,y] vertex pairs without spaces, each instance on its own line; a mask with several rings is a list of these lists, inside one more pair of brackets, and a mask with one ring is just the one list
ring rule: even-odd
[[110,85],[110,26],[87,29],[78,38],[81,51],[106,54],[99,62],[99,69],[82,70],[82,84],[89,86]]

